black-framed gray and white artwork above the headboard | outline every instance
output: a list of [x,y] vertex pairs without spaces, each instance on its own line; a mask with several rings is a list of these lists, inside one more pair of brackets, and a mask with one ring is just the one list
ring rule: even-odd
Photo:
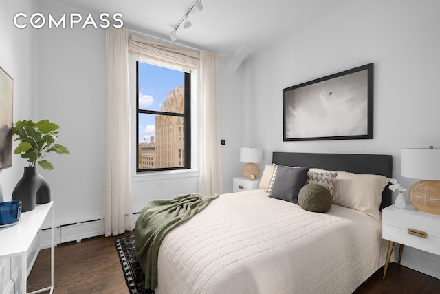
[[373,138],[373,63],[283,89],[283,140]]

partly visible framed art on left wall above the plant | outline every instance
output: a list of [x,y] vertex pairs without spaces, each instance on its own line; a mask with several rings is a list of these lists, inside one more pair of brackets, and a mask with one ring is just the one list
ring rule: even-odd
[[12,78],[0,67],[0,169],[12,166]]

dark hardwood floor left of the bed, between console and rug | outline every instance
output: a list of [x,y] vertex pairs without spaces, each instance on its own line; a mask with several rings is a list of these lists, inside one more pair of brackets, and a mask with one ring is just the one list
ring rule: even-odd
[[[54,248],[54,294],[129,293],[115,238],[88,238]],[[50,249],[40,251],[28,278],[28,292],[50,286]],[[48,292],[45,292],[48,293]]]

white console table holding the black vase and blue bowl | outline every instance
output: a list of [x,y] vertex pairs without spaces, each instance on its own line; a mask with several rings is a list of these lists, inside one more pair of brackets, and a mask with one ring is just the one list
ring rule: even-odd
[[[0,258],[11,258],[21,256],[21,293],[27,292],[28,275],[28,251],[32,242],[41,229],[44,220],[50,214],[51,222],[51,245],[50,245],[50,286],[31,293],[41,293],[44,291],[54,291],[54,202],[47,204],[37,204],[32,211],[21,213],[18,224],[12,227],[0,229]],[[30,293],[29,293],[30,294]]]

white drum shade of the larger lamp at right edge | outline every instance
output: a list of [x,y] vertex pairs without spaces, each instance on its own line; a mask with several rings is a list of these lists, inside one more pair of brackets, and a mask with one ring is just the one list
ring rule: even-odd
[[440,148],[404,148],[400,155],[402,176],[440,180]]

